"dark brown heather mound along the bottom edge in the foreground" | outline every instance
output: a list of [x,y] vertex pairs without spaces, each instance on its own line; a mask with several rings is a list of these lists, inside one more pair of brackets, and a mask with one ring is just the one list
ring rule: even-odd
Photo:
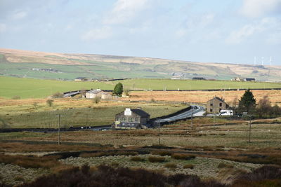
[[201,181],[198,176],[165,176],[145,169],[113,168],[100,165],[95,170],[74,167],[59,174],[41,176],[22,186],[224,186],[215,181]]

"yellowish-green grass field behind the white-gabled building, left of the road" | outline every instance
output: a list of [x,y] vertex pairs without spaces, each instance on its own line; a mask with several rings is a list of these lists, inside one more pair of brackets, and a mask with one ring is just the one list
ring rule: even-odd
[[[58,127],[58,114],[61,115],[61,127],[110,125],[115,120],[115,114],[128,107],[141,107],[150,113],[150,118],[168,115],[187,107],[176,104],[130,104],[128,102],[93,104],[90,99],[55,99],[54,105],[49,107],[46,106],[44,99],[35,99],[35,101],[36,107],[31,101],[25,104],[23,102],[0,106],[0,118],[5,121],[5,127]],[[0,121],[0,127],[4,127],[5,124]]]

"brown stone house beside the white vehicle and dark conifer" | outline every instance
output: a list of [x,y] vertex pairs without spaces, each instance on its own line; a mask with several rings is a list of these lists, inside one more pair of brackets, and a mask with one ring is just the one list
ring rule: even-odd
[[221,110],[226,110],[228,108],[229,106],[224,99],[219,97],[214,97],[207,102],[207,113],[219,113]]

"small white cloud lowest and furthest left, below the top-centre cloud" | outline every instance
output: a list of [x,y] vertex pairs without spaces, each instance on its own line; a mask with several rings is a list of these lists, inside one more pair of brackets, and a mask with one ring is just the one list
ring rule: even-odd
[[103,40],[109,39],[112,36],[111,27],[102,27],[99,29],[91,29],[89,32],[86,32],[81,38],[84,41],[94,41],[94,40]]

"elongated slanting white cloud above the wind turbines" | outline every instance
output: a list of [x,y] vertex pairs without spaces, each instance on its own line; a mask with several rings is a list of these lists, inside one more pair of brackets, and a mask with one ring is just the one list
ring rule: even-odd
[[278,21],[275,18],[263,18],[259,22],[253,24],[244,25],[244,27],[237,31],[231,32],[226,41],[228,43],[241,43],[244,39],[247,39],[254,34],[261,33],[270,28],[275,28],[278,25]]

